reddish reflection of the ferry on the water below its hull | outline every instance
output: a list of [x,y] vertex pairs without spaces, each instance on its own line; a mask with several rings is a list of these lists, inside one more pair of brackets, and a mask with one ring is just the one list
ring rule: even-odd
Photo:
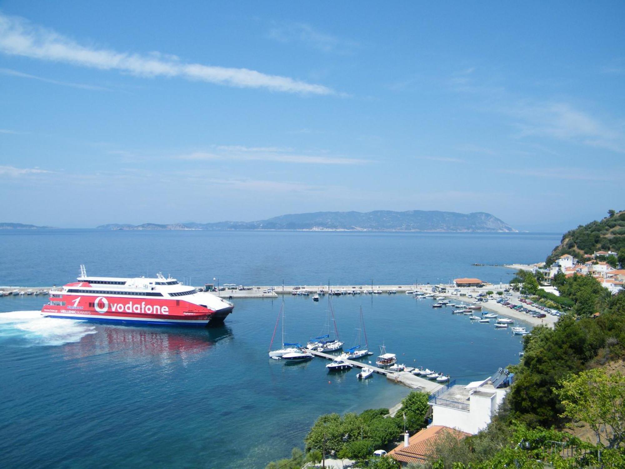
[[224,325],[215,328],[180,329],[136,326],[97,326],[97,333],[79,343],[63,347],[68,360],[115,354],[116,359],[156,360],[161,364],[181,361],[184,365],[220,341],[232,340],[232,330]]

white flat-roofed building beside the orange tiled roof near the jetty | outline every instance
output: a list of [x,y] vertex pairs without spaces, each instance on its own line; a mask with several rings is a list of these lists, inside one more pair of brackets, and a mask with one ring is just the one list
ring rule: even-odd
[[451,386],[430,398],[432,425],[448,426],[475,435],[490,423],[507,391],[494,388],[490,378],[466,386]]

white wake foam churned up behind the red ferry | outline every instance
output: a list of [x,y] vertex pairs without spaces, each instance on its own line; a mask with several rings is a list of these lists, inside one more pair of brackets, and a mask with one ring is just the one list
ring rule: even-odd
[[27,345],[63,345],[96,332],[95,326],[85,321],[44,318],[40,311],[0,313],[0,336],[22,336]]

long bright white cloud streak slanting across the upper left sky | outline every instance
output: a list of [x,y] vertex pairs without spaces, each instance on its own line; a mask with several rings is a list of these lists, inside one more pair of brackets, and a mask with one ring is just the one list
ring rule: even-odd
[[299,94],[335,94],[320,84],[306,83],[286,76],[269,75],[245,68],[225,68],[184,63],[175,56],[161,53],[119,53],[83,46],[51,29],[29,23],[26,19],[0,13],[0,52],[73,65],[117,70],[134,76],[180,77],[238,88],[266,88]]

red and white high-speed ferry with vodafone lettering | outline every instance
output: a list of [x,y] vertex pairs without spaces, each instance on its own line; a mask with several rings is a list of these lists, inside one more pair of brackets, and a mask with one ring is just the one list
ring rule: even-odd
[[41,308],[49,318],[135,325],[212,326],[223,323],[234,305],[175,278],[89,277],[50,291]]

